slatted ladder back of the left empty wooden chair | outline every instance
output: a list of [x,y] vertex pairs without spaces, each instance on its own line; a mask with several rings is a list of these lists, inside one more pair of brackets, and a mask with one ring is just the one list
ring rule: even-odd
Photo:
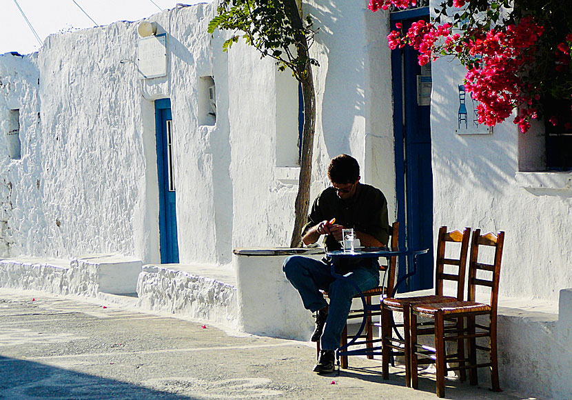
[[[457,282],[457,299],[463,299],[465,266],[467,266],[467,254],[469,250],[469,237],[471,236],[471,228],[460,230],[451,230],[447,232],[447,226],[439,228],[437,238],[437,259],[435,266],[435,294],[442,296],[443,281]],[[445,258],[446,243],[461,243],[458,258]],[[445,274],[443,272],[446,265],[457,266],[457,274]]]

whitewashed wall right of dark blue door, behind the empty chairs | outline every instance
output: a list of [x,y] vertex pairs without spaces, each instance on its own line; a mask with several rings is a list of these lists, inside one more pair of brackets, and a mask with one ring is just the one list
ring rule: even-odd
[[456,134],[463,77],[462,66],[433,63],[433,230],[504,230],[500,293],[558,301],[572,287],[572,173],[519,172],[519,142],[538,137],[538,127],[523,135],[509,118],[493,134]]

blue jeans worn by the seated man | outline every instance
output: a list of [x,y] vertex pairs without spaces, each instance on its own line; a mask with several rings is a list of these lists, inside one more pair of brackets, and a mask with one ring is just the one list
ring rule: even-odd
[[[324,261],[290,256],[285,259],[282,269],[286,278],[300,293],[304,307],[311,312],[328,305],[320,292],[327,290],[329,312],[320,347],[324,350],[336,350],[340,347],[342,332],[351,308],[351,299],[358,291],[346,279],[333,277],[329,263]],[[379,285],[378,261],[362,259],[344,276],[349,277],[362,291],[376,288]]]

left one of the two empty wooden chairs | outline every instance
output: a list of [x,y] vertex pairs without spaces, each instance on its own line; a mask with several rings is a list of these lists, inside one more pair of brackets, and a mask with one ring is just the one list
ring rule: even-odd
[[[411,365],[409,363],[409,307],[418,303],[445,303],[447,301],[462,301],[464,292],[464,277],[467,266],[467,252],[469,250],[469,239],[471,236],[471,228],[460,230],[452,230],[447,232],[447,227],[439,228],[437,239],[437,258],[435,266],[435,294],[428,296],[416,297],[391,297],[383,299],[381,314],[381,337],[382,337],[382,374],[383,379],[389,379],[389,361],[391,355],[402,354],[405,357],[405,384],[411,387]],[[456,258],[445,258],[445,246],[447,243],[460,243],[460,251]],[[456,266],[456,274],[445,273],[445,265]],[[455,281],[457,283],[457,296],[444,296],[444,281]],[[403,313],[402,326],[403,339],[392,336],[393,312]],[[425,328],[424,334],[432,334],[432,328]],[[418,333],[419,334],[419,333]],[[460,341],[462,345],[462,341]],[[460,346],[462,352],[462,346]],[[464,377],[462,377],[464,379]]]

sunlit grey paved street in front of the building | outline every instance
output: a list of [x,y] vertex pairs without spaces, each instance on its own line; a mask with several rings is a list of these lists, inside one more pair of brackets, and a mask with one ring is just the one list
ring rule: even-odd
[[[437,399],[429,378],[382,381],[378,361],[320,377],[307,343],[103,305],[0,289],[0,399]],[[528,399],[456,381],[447,398]]]

